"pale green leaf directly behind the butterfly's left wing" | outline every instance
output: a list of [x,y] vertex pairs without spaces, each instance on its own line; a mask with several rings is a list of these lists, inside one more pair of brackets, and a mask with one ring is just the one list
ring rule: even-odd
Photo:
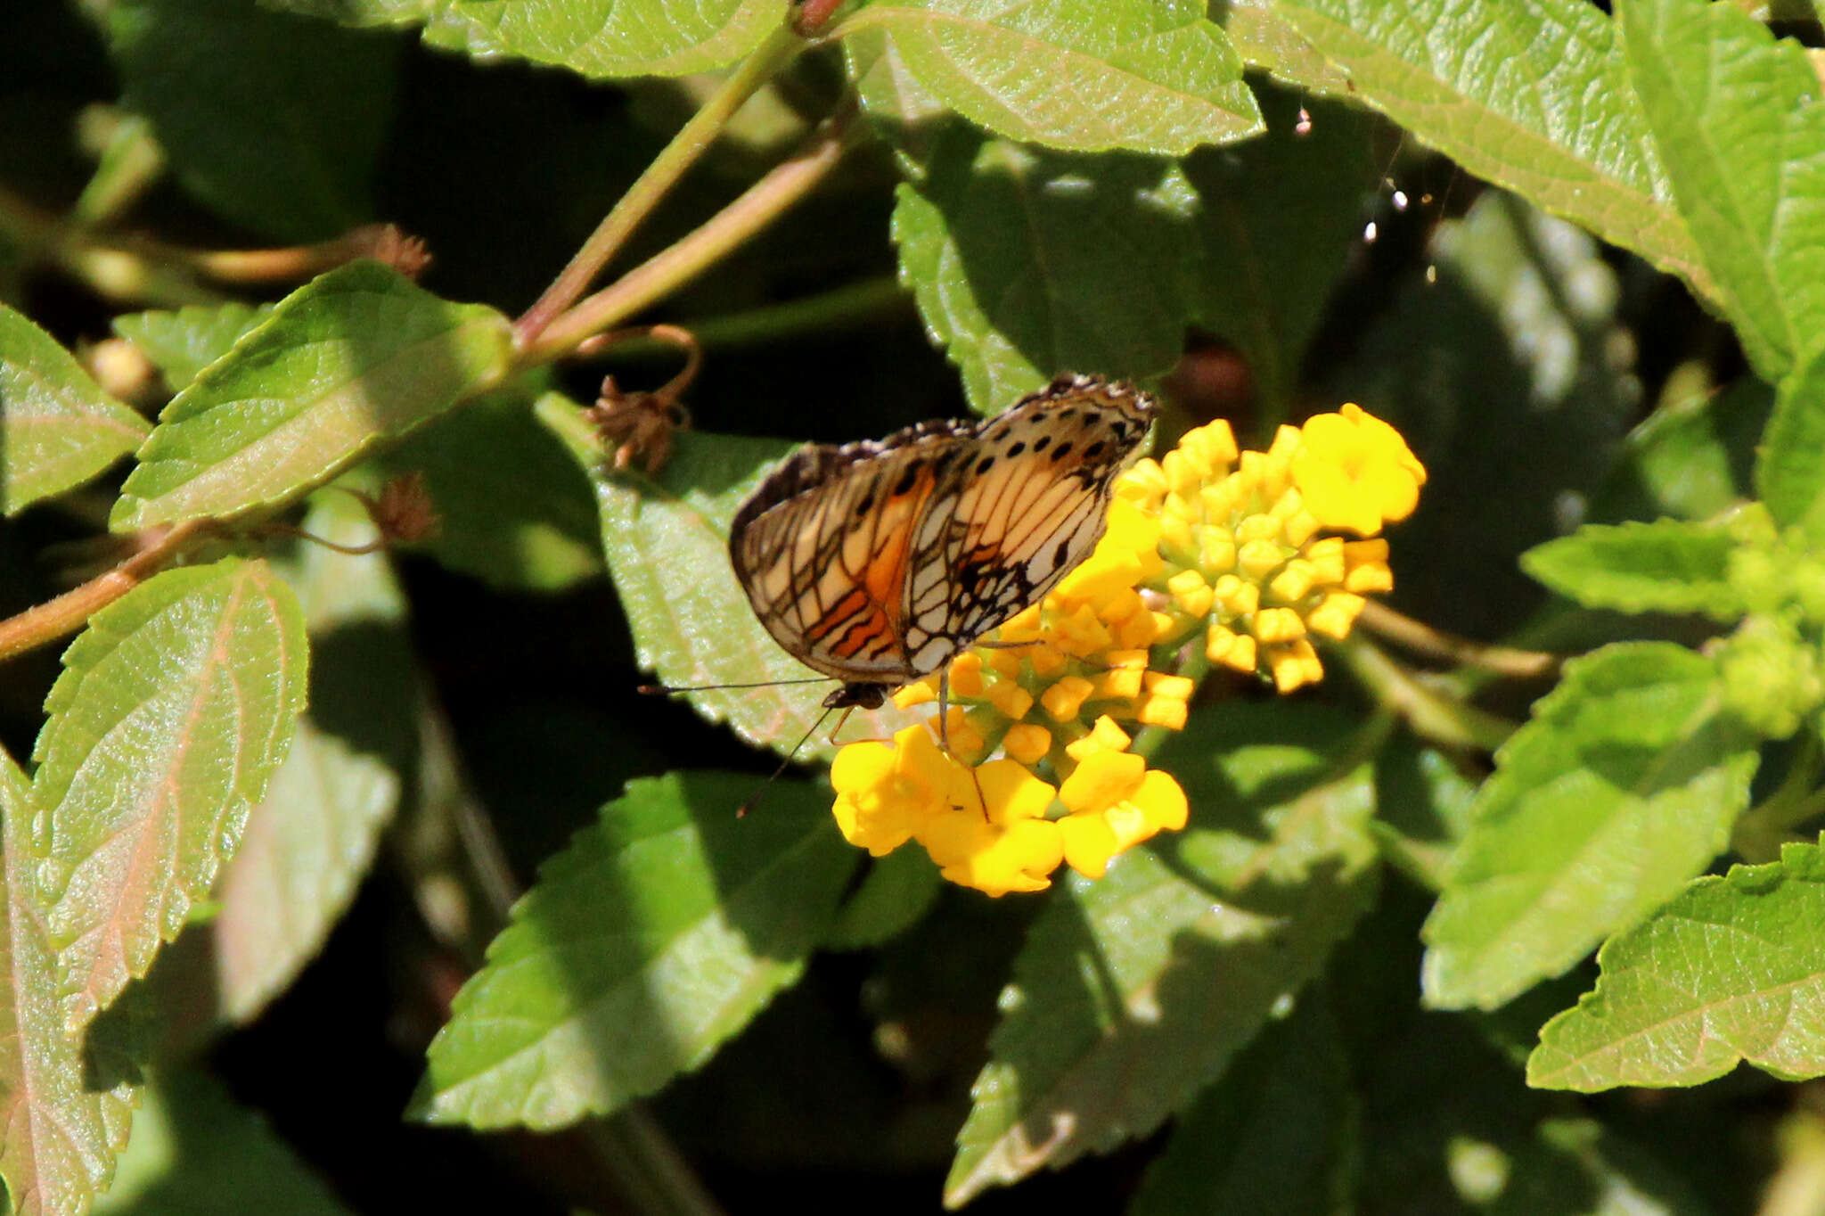
[[[728,524],[779,456],[779,440],[683,431],[657,478],[611,473],[595,433],[558,396],[538,402],[549,425],[584,466],[602,517],[602,551],[644,670],[672,687],[754,685],[690,692],[692,708],[726,721],[750,743],[785,754],[823,718],[834,688],[779,648],[754,617],[728,564]],[[894,708],[856,710],[849,738],[891,738],[916,718]],[[812,732],[799,756],[829,758],[827,732]]]

